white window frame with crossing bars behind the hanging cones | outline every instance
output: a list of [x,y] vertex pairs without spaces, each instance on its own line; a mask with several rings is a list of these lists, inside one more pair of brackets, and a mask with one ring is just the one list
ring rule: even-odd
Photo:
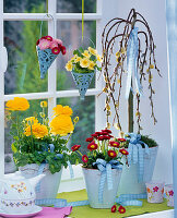
[[[96,1],[96,13],[85,13],[84,21],[96,21],[96,35],[101,36],[101,21],[102,21],[102,4],[103,0]],[[3,49],[3,22],[4,21],[48,21],[48,35],[57,37],[55,29],[57,29],[57,21],[82,21],[81,13],[57,13],[57,0],[48,0],[48,14],[51,14],[52,19],[46,16],[46,13],[3,13],[3,0],[0,1],[0,63],[3,65],[5,62]],[[96,37],[97,50],[101,51],[101,39]],[[5,68],[5,66],[4,66]],[[26,93],[26,94],[12,94],[4,95],[4,71],[0,68],[0,178],[4,174],[4,102],[13,99],[14,97],[24,97],[28,100],[34,99],[48,99],[48,116],[52,114],[52,108],[56,106],[57,98],[63,97],[79,97],[79,90],[57,90],[57,63],[52,63],[48,71],[48,92],[44,93]],[[95,113],[99,114],[98,105],[99,97],[97,94],[102,92],[102,80],[97,80],[96,74],[95,88],[87,90],[86,96],[95,96]],[[96,123],[102,120],[102,116],[95,116],[95,129]]]

